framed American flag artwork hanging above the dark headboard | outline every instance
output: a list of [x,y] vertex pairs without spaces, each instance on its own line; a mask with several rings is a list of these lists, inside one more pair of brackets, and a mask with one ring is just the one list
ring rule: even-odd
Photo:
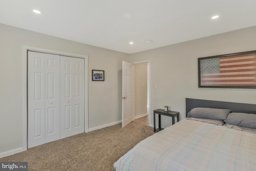
[[198,58],[198,87],[256,88],[256,50]]

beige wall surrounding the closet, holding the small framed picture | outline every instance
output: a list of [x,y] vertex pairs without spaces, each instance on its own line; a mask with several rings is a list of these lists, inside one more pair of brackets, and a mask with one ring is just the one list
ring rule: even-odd
[[[89,129],[122,120],[122,60],[129,54],[0,24],[0,154],[23,146],[23,45],[88,55]],[[105,70],[105,81],[92,82],[92,69]]]

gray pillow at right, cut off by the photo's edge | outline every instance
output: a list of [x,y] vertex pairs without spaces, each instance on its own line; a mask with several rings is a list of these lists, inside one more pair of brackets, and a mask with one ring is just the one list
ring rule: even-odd
[[227,119],[224,120],[230,125],[240,127],[248,127],[256,129],[256,114],[252,113],[229,113]]

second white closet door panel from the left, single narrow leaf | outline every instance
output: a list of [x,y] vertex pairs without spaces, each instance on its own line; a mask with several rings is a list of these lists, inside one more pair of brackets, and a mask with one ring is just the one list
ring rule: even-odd
[[45,142],[60,139],[60,56],[45,54]]

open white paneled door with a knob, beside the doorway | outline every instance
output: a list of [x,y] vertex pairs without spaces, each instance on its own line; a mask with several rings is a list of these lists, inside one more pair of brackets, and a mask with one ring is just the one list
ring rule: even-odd
[[122,62],[122,127],[134,120],[134,65]]

